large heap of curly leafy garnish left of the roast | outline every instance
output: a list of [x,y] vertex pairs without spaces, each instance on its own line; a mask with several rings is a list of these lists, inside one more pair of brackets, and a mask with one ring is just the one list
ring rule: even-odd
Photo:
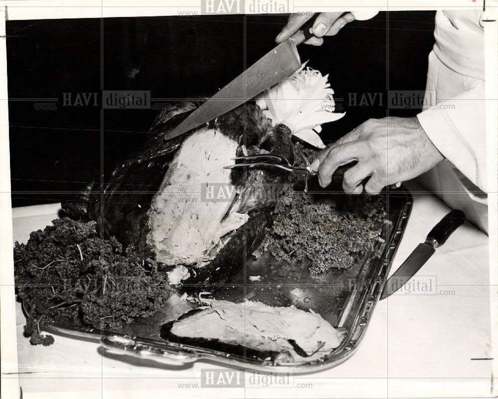
[[14,248],[16,292],[27,318],[24,333],[33,345],[53,343],[40,331],[56,318],[120,330],[163,306],[171,289],[154,262],[145,263],[132,248],[123,252],[115,237],[101,239],[95,222],[64,218],[52,223]]

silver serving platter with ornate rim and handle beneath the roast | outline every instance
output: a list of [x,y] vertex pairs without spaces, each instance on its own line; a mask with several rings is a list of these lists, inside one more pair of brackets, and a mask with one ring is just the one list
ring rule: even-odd
[[[159,312],[137,323],[132,323],[127,327],[127,331],[120,334],[67,325],[62,322],[46,326],[45,330],[72,338],[100,341],[103,345],[104,356],[124,355],[123,358],[129,356],[146,358],[156,362],[158,367],[161,365],[185,367],[199,360],[209,360],[234,368],[263,372],[278,372],[292,368],[295,373],[310,373],[335,367],[356,352],[367,331],[373,309],[384,289],[392,259],[411,212],[412,196],[404,186],[395,190],[387,190],[385,194],[387,220],[389,221],[382,232],[385,242],[376,241],[374,245],[366,249],[365,256],[359,261],[358,267],[353,270],[354,275],[348,275],[352,271],[331,269],[326,273],[329,275],[328,280],[320,282],[305,277],[309,276],[307,272],[299,274],[291,270],[285,274],[280,272],[286,269],[285,265],[279,264],[271,255],[266,254],[257,260],[248,260],[247,265],[233,277],[233,281],[214,294],[217,299],[240,299],[242,301],[247,298],[260,300],[272,306],[294,304],[305,310],[311,308],[334,327],[345,330],[346,335],[340,346],[318,360],[278,363],[274,360],[232,353],[229,350],[214,350],[161,338],[159,335],[161,325],[193,308],[186,301],[184,301],[183,309],[165,309],[163,313]],[[264,282],[250,280],[249,275],[254,273],[262,275],[261,281]],[[342,278],[342,285],[331,284],[330,278],[336,278],[337,281]],[[344,286],[344,281],[350,282],[348,286]],[[299,299],[296,302],[296,298],[292,296],[296,287],[308,295],[307,302],[299,302]]]

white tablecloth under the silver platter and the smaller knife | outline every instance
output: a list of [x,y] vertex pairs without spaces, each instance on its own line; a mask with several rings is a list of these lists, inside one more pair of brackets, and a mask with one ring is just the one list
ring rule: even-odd
[[[413,196],[391,272],[449,211],[427,192]],[[14,209],[14,240],[25,242],[31,231],[56,217],[57,209]],[[491,361],[471,360],[492,357],[490,348],[496,346],[491,342],[488,258],[488,237],[465,223],[417,274],[432,280],[435,294],[398,293],[380,301],[351,359],[330,370],[295,375],[292,387],[187,387],[179,384],[200,385],[201,369],[224,366],[197,362],[186,368],[157,368],[150,361],[103,357],[98,344],[59,336],[52,346],[31,346],[22,336],[19,306],[20,374],[8,377],[19,377],[24,398],[74,398],[76,392],[84,398],[489,397]]]

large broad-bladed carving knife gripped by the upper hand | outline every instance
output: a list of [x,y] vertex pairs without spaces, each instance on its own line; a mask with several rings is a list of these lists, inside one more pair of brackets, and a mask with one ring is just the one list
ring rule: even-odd
[[171,132],[169,140],[225,114],[244,104],[267,88],[292,75],[301,67],[296,45],[313,37],[313,19],[308,21],[291,38],[278,44],[228,85],[207,100]]

